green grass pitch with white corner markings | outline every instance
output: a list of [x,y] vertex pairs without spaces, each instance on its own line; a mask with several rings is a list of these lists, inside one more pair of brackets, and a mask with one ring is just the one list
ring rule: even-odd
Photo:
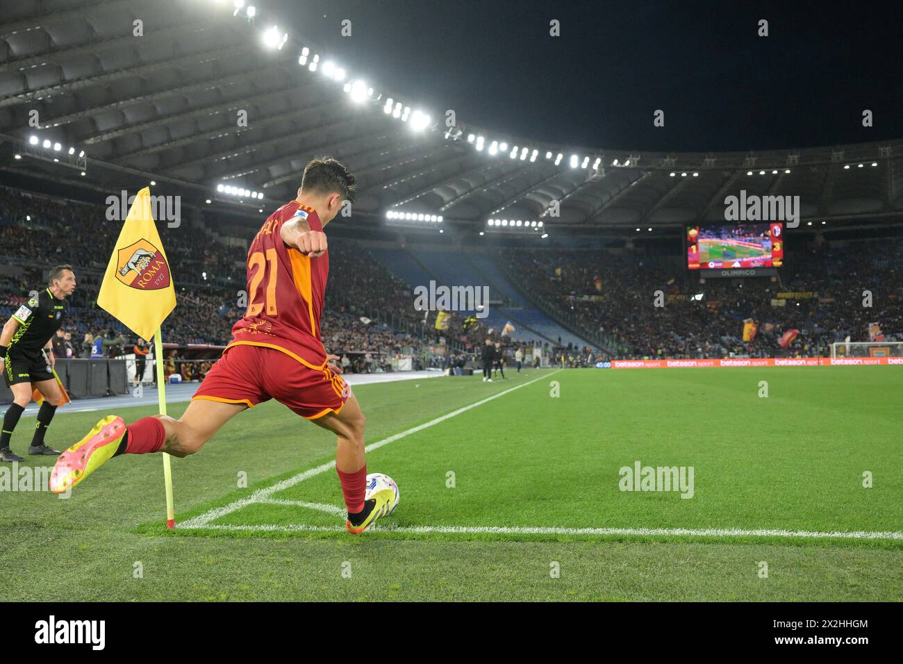
[[[355,388],[368,444],[404,434],[368,453],[401,502],[358,538],[334,469],[312,472],[333,437],[274,402],[172,460],[198,528],[165,530],[157,454],[68,500],[0,492],[0,599],[903,599],[898,368],[506,373]],[[103,415],[61,409],[48,444]],[[621,491],[636,462],[693,467],[693,497]]]

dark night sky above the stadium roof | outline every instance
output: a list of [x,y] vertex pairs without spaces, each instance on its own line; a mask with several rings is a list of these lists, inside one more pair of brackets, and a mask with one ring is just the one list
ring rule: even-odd
[[259,2],[377,89],[538,141],[706,151],[903,136],[899,2]]

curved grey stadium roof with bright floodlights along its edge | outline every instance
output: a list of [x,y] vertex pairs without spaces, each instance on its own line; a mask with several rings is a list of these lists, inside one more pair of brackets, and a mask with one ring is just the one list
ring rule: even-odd
[[252,4],[8,4],[0,168],[108,194],[154,180],[199,205],[256,211],[293,198],[304,164],[330,154],[358,175],[355,216],[479,229],[719,220],[741,189],[799,195],[804,219],[903,217],[903,140],[669,154],[548,145],[462,117],[450,128],[444,110],[414,105],[415,80],[396,91],[356,79],[280,17],[249,16]]

